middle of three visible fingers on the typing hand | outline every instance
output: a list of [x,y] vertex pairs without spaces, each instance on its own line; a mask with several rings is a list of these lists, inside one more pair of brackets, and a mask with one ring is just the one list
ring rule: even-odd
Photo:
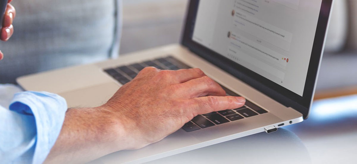
[[176,90],[175,94],[186,98],[226,95],[226,91],[217,82],[207,76],[177,84],[177,87],[178,90]]

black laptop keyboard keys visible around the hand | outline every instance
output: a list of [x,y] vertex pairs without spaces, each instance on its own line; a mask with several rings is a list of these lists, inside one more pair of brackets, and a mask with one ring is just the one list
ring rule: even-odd
[[[128,66],[120,66],[116,68],[105,69],[104,71],[111,77],[116,79],[122,85],[130,82],[142,69],[145,67],[156,67],[162,70],[178,70],[178,69],[188,69],[190,68],[186,64],[178,61],[172,56],[154,59],[150,61],[145,61],[142,63],[135,63]],[[236,93],[228,90],[227,88],[222,88],[226,91],[227,95],[239,96]],[[234,110],[223,110],[218,112],[211,112],[208,114],[198,115],[194,117],[191,121],[183,125],[182,129],[191,132],[199,129],[204,129],[207,127],[225,124],[227,122],[236,121],[244,119],[247,117],[253,117],[260,114],[267,113],[266,110],[255,105],[250,101],[246,101],[243,107]]]

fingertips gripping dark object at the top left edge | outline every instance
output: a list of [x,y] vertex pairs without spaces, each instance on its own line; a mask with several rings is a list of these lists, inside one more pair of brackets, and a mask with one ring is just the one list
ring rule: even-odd
[[[0,30],[0,40],[2,41],[7,41],[10,39],[11,35],[14,33],[14,26],[12,26],[12,21],[15,18],[16,15],[16,10],[14,8],[14,6],[12,6],[10,4],[12,0],[8,1],[7,7],[6,7],[6,11],[5,11],[5,15],[4,15],[4,21],[0,22],[0,25],[2,24],[2,26],[0,26],[1,30]],[[0,60],[4,57],[4,54],[2,54],[1,50],[0,50]]]

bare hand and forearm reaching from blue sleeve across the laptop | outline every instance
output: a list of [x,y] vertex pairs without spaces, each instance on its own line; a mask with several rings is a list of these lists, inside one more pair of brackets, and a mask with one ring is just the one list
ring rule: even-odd
[[164,139],[198,114],[243,106],[201,69],[143,69],[110,100],[95,108],[70,108],[45,163],[85,163],[119,150]]

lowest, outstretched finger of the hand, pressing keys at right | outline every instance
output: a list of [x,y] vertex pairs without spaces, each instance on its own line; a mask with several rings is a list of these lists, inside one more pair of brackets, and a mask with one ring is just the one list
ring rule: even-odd
[[242,107],[246,101],[243,97],[235,96],[206,96],[193,98],[192,100],[196,102],[196,107],[193,110],[195,110],[198,115],[239,108]]

